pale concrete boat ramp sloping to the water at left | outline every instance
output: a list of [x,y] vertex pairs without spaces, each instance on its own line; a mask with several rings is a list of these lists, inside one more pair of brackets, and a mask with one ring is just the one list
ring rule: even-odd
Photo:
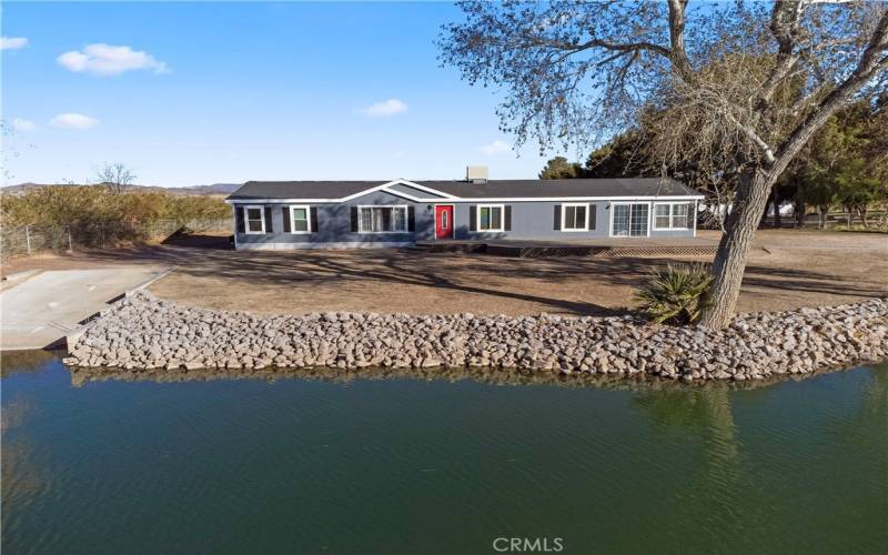
[[0,350],[61,344],[108,303],[174,270],[121,266],[58,270],[10,276],[0,292]]

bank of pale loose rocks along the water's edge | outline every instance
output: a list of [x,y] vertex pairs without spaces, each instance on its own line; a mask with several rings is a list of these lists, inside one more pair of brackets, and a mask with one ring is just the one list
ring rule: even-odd
[[888,300],[738,314],[713,332],[633,316],[259,316],[138,292],[105,311],[64,363],[125,370],[327,366],[522,371],[763,380],[888,360]]

